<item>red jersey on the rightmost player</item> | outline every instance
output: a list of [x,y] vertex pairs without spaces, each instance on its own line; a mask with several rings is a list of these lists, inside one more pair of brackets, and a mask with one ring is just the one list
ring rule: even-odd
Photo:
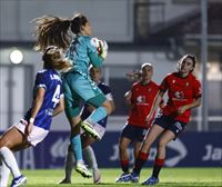
[[191,110],[185,110],[178,115],[178,109],[181,106],[192,104],[194,99],[201,97],[201,83],[195,77],[190,73],[188,77],[179,77],[178,72],[168,75],[161,86],[161,91],[168,91],[168,104],[162,109],[165,116],[171,116],[175,120],[189,122]]

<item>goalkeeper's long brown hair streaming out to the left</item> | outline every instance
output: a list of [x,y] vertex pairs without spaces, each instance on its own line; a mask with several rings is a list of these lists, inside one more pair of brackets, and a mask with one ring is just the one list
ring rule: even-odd
[[81,27],[88,22],[88,19],[83,14],[77,13],[71,20],[43,16],[36,18],[32,22],[36,23],[37,51],[44,51],[48,46],[57,46],[65,50],[71,42],[69,28],[74,35],[78,35]]

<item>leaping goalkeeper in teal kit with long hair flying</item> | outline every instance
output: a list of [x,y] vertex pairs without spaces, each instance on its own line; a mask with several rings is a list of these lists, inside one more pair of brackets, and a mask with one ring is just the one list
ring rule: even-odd
[[[81,13],[69,19],[58,17],[42,17],[36,19],[37,50],[44,50],[47,46],[54,45],[67,51],[67,58],[72,62],[72,70],[63,75],[63,91],[65,115],[71,126],[71,147],[77,159],[75,170],[83,177],[92,174],[85,167],[82,159],[82,146],[80,139],[80,126],[94,138],[100,135],[93,125],[107,117],[112,111],[112,106],[90,79],[89,67],[101,67],[107,57],[104,42],[94,46],[92,30],[89,20]],[[74,38],[70,42],[70,31]],[[99,52],[98,52],[99,51]],[[95,110],[81,120],[80,111],[82,101],[93,106]]]

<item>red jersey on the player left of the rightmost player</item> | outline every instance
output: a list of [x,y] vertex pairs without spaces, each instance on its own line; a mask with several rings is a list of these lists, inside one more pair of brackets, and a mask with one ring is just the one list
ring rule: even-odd
[[[131,89],[131,105],[130,115],[128,119],[129,125],[149,128],[145,118],[153,106],[154,98],[159,91],[159,86],[150,81],[148,85],[135,82]],[[154,116],[153,116],[154,117]],[[152,120],[151,120],[152,121]]]

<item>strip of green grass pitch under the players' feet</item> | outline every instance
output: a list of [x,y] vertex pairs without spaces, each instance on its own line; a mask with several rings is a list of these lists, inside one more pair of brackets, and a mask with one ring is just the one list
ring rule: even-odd
[[[99,187],[125,187],[141,186],[141,183],[150,176],[151,169],[143,169],[139,184],[115,184],[115,178],[121,174],[120,169],[101,169],[102,184]],[[57,185],[62,179],[63,170],[23,170],[28,177],[28,187],[53,187],[53,186],[75,186],[94,187],[92,179],[82,178],[73,171],[71,185]],[[157,186],[171,187],[194,187],[194,186],[220,186],[222,187],[222,168],[163,168],[160,176],[160,184]]]

